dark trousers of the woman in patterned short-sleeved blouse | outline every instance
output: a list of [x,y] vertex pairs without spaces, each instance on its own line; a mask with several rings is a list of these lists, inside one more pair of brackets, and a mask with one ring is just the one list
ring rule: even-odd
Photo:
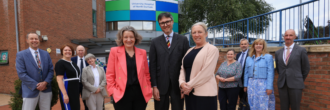
[[234,88],[219,87],[218,99],[220,104],[220,110],[236,110],[236,104],[240,90],[241,90],[240,87],[234,87]]

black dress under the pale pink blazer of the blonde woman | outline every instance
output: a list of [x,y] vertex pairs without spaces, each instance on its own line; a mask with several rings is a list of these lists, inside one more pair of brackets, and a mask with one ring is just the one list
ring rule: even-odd
[[[203,47],[191,50],[183,58],[183,68],[185,69],[185,81],[190,81],[191,68],[194,63],[196,55]],[[186,110],[217,110],[216,96],[197,96],[192,92],[189,95],[184,95]]]

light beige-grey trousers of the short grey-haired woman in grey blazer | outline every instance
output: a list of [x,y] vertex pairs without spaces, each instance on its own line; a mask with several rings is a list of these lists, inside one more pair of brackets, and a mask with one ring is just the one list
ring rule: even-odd
[[86,100],[86,105],[89,110],[102,110],[104,97],[101,92],[90,93]]

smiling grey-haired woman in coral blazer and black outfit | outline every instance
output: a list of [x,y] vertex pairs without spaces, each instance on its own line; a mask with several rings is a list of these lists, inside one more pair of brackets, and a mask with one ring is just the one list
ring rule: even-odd
[[136,48],[142,36],[131,26],[118,31],[107,67],[107,89],[115,110],[145,110],[152,96],[146,50]]

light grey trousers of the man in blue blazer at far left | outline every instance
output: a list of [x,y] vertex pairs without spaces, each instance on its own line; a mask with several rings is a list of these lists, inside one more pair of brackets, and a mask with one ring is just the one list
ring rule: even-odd
[[23,98],[22,110],[35,110],[37,103],[39,103],[40,110],[50,110],[50,102],[53,94],[52,92],[39,92],[39,95],[34,98]]

